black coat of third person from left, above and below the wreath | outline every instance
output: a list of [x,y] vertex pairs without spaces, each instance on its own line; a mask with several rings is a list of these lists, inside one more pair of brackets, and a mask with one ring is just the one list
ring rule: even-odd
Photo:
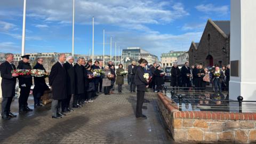
[[[33,69],[41,69],[46,72],[44,66],[41,65],[40,63],[36,63],[36,65],[33,67]],[[33,89],[33,95],[39,94],[41,96],[44,94],[44,91],[50,90],[49,87],[45,83],[45,76],[34,77],[34,84],[35,84],[35,87]]]

